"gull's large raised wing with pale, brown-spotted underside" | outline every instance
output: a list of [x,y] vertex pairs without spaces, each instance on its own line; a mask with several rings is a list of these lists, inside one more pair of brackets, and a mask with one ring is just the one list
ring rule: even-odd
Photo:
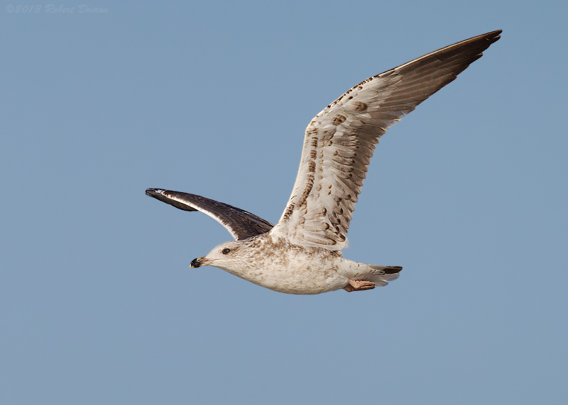
[[354,206],[379,138],[481,57],[501,30],[449,45],[359,83],[306,128],[300,170],[273,235],[346,247]]

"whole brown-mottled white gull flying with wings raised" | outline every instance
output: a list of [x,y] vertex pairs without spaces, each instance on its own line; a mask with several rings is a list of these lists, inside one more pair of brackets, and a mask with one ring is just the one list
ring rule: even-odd
[[370,77],[317,114],[306,128],[292,196],[275,226],[194,194],[163,189],[147,189],[146,194],[178,209],[202,211],[234,237],[192,260],[192,267],[219,267],[288,294],[384,286],[398,278],[402,267],[366,265],[342,257],[373,150],[389,127],[452,82],[500,33],[449,45]]

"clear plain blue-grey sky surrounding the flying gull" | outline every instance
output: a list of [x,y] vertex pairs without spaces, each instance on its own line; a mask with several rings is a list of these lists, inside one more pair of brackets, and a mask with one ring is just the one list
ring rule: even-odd
[[[1,404],[567,403],[566,2],[34,4],[0,6]],[[231,236],[144,194],[278,221],[324,106],[500,28],[378,145],[344,256],[388,287],[190,269]]]

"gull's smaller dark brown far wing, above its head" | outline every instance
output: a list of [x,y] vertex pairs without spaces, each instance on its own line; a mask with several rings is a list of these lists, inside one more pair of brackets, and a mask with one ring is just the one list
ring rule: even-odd
[[266,233],[273,228],[273,224],[250,212],[195,194],[160,189],[147,189],[146,194],[184,211],[206,213],[221,223],[235,240],[251,238],[251,236]]

